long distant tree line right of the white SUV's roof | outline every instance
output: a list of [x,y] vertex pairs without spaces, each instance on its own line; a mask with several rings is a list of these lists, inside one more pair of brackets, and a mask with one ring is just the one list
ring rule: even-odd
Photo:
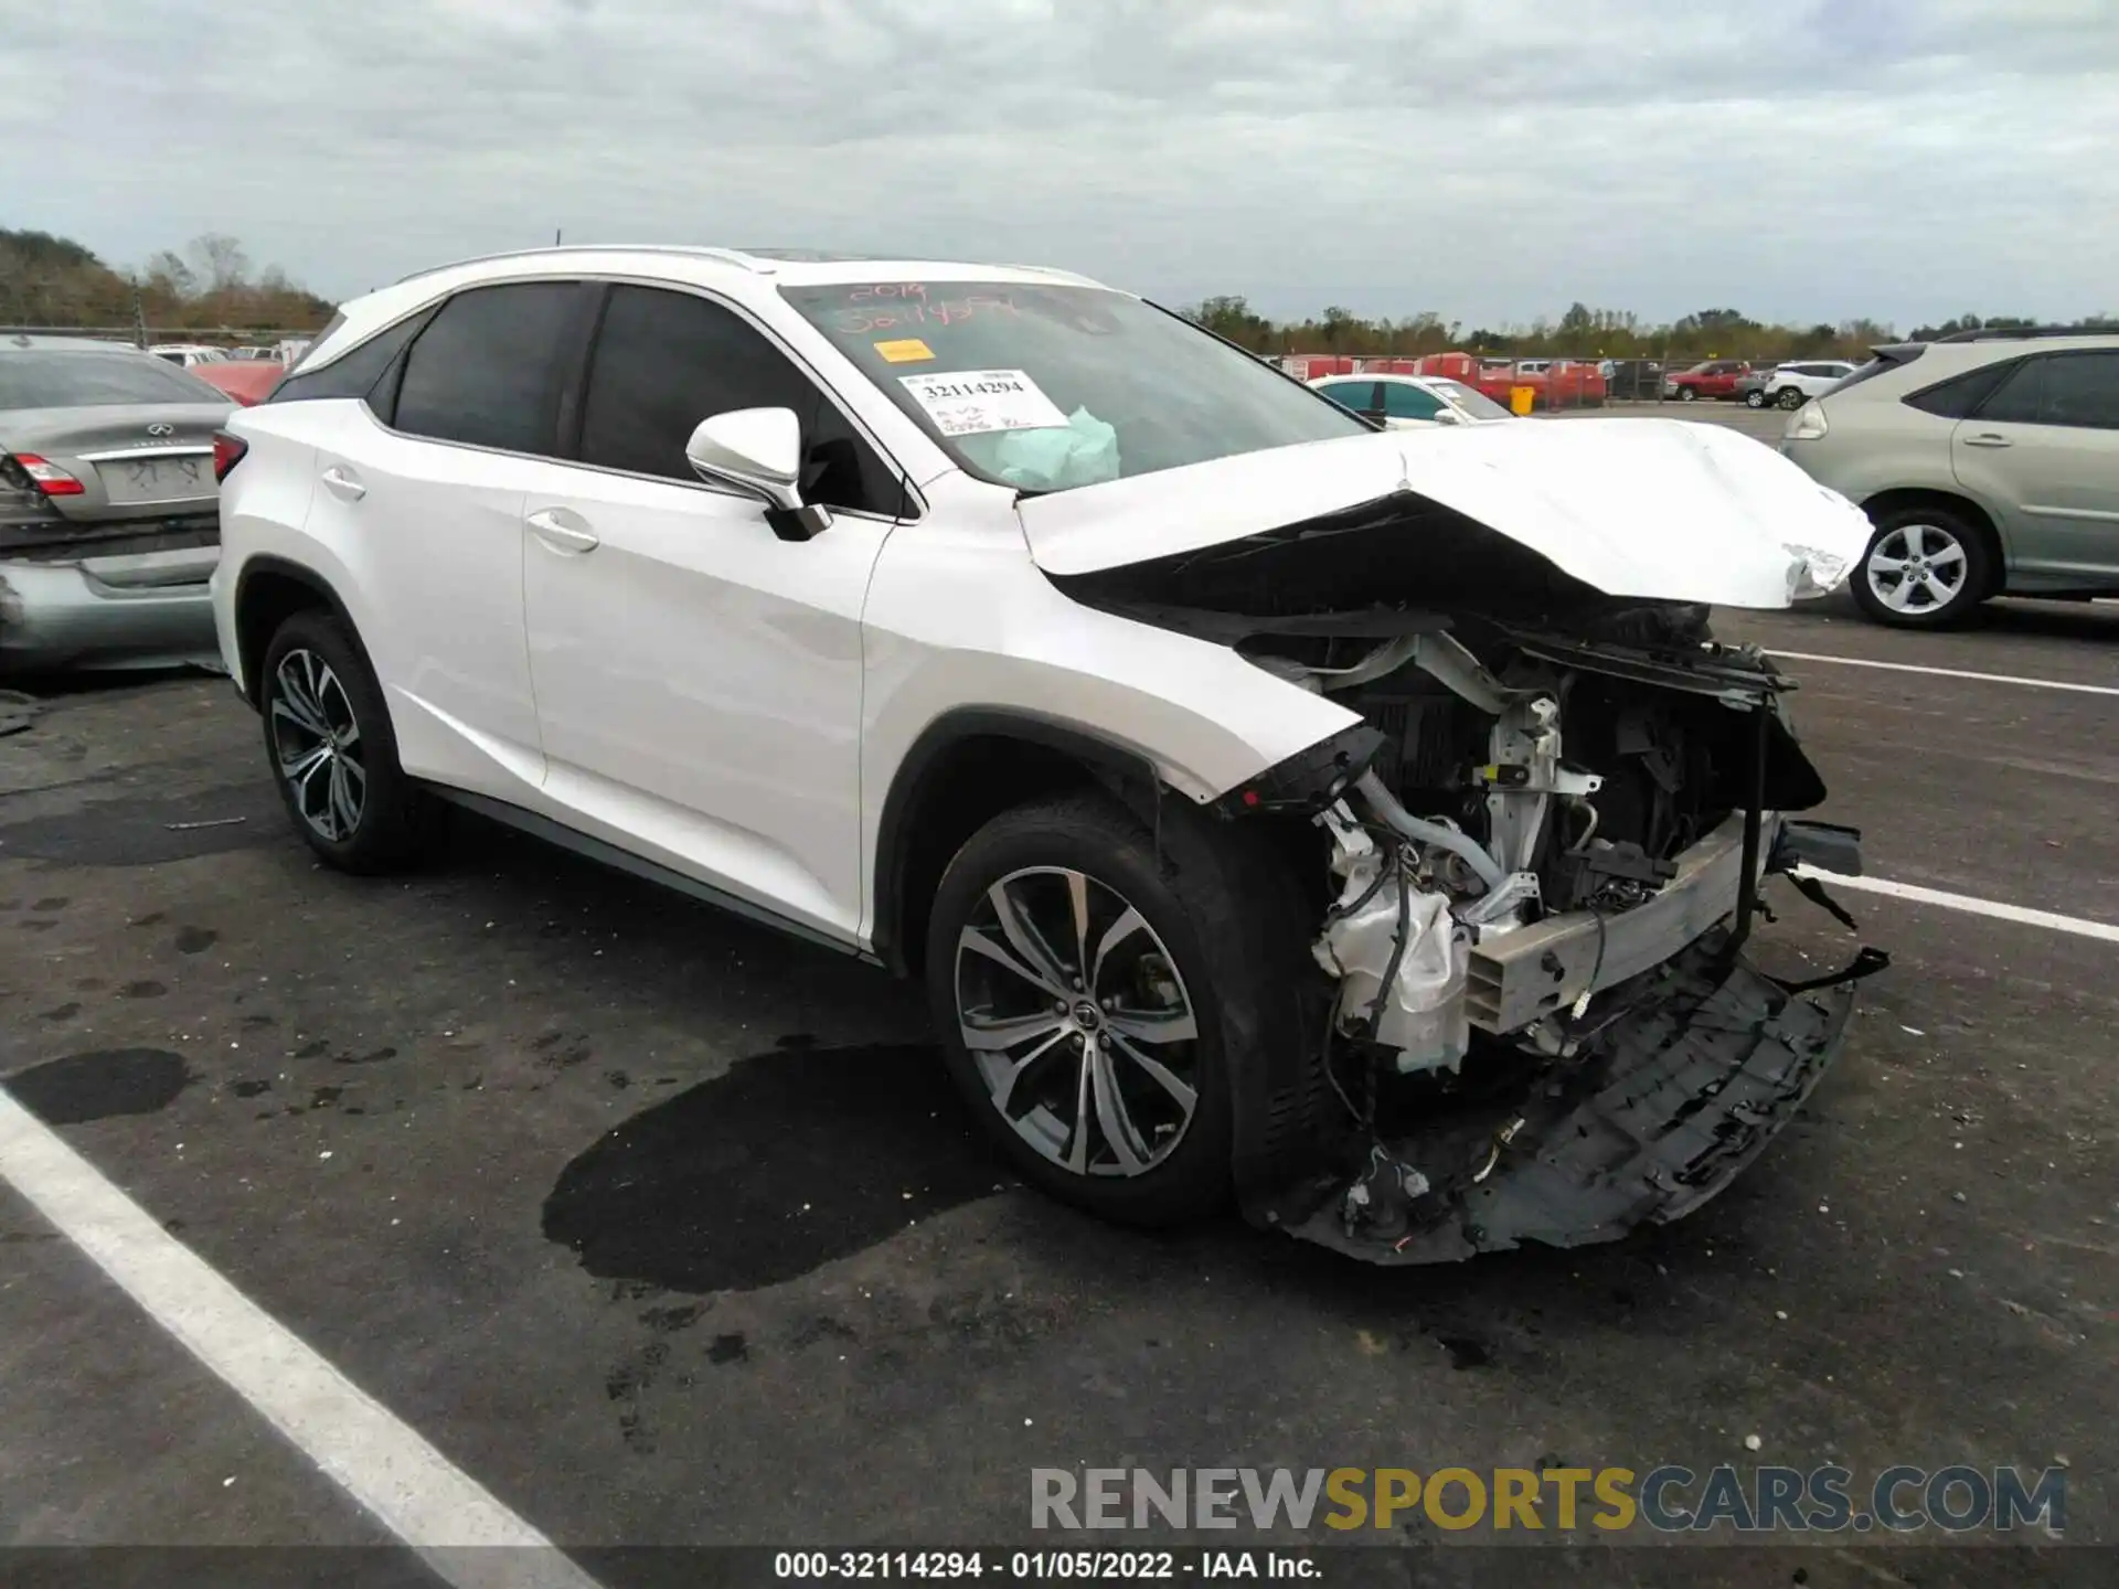
[[[1810,326],[1765,324],[1738,309],[1699,309],[1668,324],[1649,324],[1623,309],[1591,309],[1574,303],[1557,320],[1536,318],[1528,326],[1464,326],[1439,314],[1420,311],[1403,320],[1369,320],[1339,305],[1305,320],[1269,320],[1242,297],[1212,297],[1182,307],[1187,320],[1214,331],[1254,354],[1350,354],[1399,356],[1452,350],[1511,358],[1865,358],[1877,343],[1933,341],[1954,331],[2034,326],[2026,316],[1956,316],[1905,335],[1880,320],[1816,322]],[[2119,316],[2100,314],[2079,322],[2098,331],[2119,331]]]

